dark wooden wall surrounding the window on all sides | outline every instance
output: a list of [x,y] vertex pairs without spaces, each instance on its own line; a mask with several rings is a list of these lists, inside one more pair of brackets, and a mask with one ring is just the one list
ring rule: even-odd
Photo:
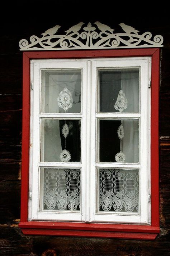
[[[36,3],[36,5],[35,5]],[[93,4],[93,6],[92,6]],[[24,1],[4,3],[0,18],[0,255],[114,256],[170,255],[170,22],[167,6],[148,7],[110,1]],[[2,6],[1,6],[2,7]],[[108,238],[25,236],[20,219],[22,52],[19,41],[59,24],[78,22],[116,28],[124,22],[164,37],[160,72],[160,226],[155,241]],[[45,252],[43,254],[43,252]]]

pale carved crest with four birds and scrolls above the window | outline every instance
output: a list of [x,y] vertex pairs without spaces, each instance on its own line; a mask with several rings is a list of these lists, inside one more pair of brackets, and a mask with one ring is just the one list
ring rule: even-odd
[[[163,37],[151,32],[143,34],[135,28],[120,23],[121,32],[96,21],[79,22],[60,35],[61,26],[49,28],[41,37],[31,36],[30,43],[26,39],[19,42],[20,50],[69,50],[69,49],[114,49],[114,48],[145,48],[162,47]],[[140,35],[141,34],[141,35]]]

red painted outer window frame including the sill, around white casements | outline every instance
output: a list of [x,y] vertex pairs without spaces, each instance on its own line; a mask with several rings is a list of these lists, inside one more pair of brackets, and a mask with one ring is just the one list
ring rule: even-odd
[[[30,60],[104,57],[152,57],[151,87],[151,225],[69,223],[28,221],[29,192],[29,125],[30,125]],[[19,227],[26,235],[60,235],[153,240],[159,226],[159,48],[113,50],[65,50],[23,52],[23,126],[21,220]]]

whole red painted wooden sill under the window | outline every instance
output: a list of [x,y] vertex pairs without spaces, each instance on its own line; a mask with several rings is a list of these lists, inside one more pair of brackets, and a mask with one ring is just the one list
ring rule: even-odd
[[159,227],[128,224],[56,223],[43,221],[20,222],[25,235],[57,235],[154,240]]

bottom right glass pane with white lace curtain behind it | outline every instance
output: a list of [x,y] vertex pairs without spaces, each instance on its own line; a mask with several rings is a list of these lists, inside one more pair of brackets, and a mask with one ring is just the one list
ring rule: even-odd
[[99,169],[99,211],[139,212],[139,170]]

